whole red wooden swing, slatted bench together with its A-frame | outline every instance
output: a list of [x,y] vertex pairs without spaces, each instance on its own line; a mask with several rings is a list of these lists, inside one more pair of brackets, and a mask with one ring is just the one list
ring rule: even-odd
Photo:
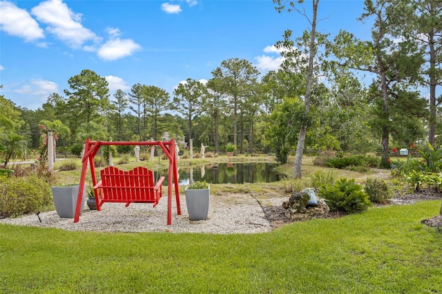
[[81,177],[79,183],[79,192],[77,197],[77,206],[75,208],[74,223],[79,221],[81,210],[81,199],[83,199],[84,185],[86,181],[86,170],[90,166],[90,176],[92,178],[93,190],[95,194],[95,203],[97,210],[101,210],[105,202],[122,202],[126,207],[134,202],[153,203],[157,206],[162,197],[162,183],[164,177],[154,184],[153,172],[144,167],[137,167],[133,170],[119,170],[113,166],[108,166],[100,171],[101,179],[97,182],[95,175],[94,157],[99,147],[102,145],[144,145],[160,146],[164,155],[169,159],[169,181],[167,190],[167,224],[172,223],[172,190],[175,190],[175,200],[177,204],[177,215],[181,215],[180,191],[178,188],[178,172],[175,155],[175,140],[171,141],[91,141],[86,140],[83,162],[81,168]]

